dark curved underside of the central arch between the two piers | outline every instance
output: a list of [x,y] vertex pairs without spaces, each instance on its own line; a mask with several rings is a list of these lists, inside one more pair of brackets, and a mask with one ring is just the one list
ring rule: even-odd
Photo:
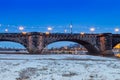
[[46,47],[52,43],[61,42],[61,41],[75,42],[75,43],[82,45],[83,47],[85,47],[87,49],[88,55],[99,55],[100,54],[98,49],[94,45],[92,45],[91,43],[84,41],[84,40],[69,40],[69,39],[68,40],[67,39],[66,40],[55,40],[55,41],[51,41],[51,42],[45,44],[44,47]]

